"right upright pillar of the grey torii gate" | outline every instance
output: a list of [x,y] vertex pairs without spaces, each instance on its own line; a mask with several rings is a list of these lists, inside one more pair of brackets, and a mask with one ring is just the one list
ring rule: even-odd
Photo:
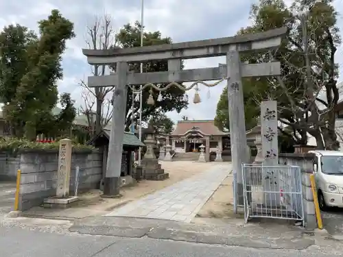
[[246,120],[244,115],[243,86],[241,84],[240,60],[238,51],[226,54],[228,77],[228,112],[230,117],[230,142],[233,173],[235,173],[237,204],[244,205],[241,164],[247,162]]

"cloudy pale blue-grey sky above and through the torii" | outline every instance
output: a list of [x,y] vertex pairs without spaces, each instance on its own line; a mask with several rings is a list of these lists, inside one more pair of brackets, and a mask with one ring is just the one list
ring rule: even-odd
[[[163,36],[170,36],[174,42],[233,36],[239,28],[249,25],[250,5],[255,1],[257,0],[145,0],[145,29],[159,30]],[[343,0],[335,0],[335,7],[343,14]],[[20,23],[36,30],[36,21],[45,19],[52,9],[60,10],[75,24],[77,37],[68,42],[63,60],[64,79],[59,83],[59,90],[60,93],[71,93],[80,105],[82,88],[78,86],[78,82],[91,74],[90,66],[81,51],[85,47],[86,26],[93,23],[96,15],[102,16],[105,13],[113,17],[113,27],[116,30],[123,24],[140,20],[141,0],[1,1],[0,27]],[[342,17],[338,25],[343,30]],[[343,65],[343,47],[338,49],[336,60]],[[186,62],[186,69],[217,66],[219,62],[225,61],[223,58],[189,60]],[[172,112],[169,117],[175,121],[180,120],[182,115],[189,119],[213,119],[223,87],[224,84],[212,88],[209,99],[206,97],[207,89],[201,87],[202,103],[190,103],[187,110],[182,110],[180,114]],[[193,92],[189,93],[189,97],[192,99]]]

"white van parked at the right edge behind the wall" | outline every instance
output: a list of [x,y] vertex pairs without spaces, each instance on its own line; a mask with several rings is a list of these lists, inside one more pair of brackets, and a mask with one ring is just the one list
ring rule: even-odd
[[320,209],[343,208],[343,152],[316,150],[309,153],[316,154],[314,175]]

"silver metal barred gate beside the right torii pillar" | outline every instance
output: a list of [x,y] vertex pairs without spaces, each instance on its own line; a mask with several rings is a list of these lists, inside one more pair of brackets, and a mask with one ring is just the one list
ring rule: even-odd
[[244,216],[303,221],[300,167],[242,165]]

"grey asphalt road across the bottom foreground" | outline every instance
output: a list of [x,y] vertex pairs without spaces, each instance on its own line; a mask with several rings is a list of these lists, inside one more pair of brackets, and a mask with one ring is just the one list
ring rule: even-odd
[[324,257],[320,249],[302,251],[254,249],[161,241],[151,238],[117,238],[113,236],[88,236],[58,234],[26,230],[18,227],[0,227],[0,256],[11,257],[209,257],[209,256],[261,256],[261,257]]

